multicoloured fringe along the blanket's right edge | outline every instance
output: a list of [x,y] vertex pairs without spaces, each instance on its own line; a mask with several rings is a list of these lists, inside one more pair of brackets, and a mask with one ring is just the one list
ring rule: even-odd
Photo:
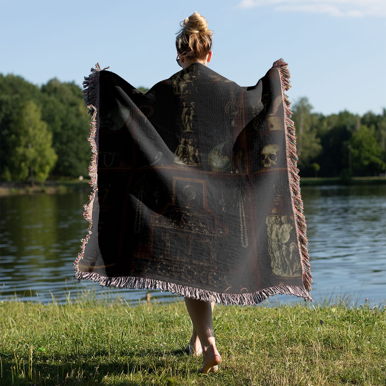
[[292,207],[295,213],[295,224],[296,232],[299,239],[299,251],[301,257],[301,263],[303,266],[303,284],[307,291],[311,291],[312,275],[310,266],[310,257],[308,255],[307,244],[308,240],[306,237],[306,220],[303,215],[303,201],[300,196],[300,177],[299,169],[297,168],[298,156],[296,154],[296,134],[295,125],[291,120],[291,102],[289,101],[285,91],[291,88],[290,74],[288,70],[288,63],[284,62],[283,58],[273,63],[273,67],[277,68],[280,73],[281,87],[283,91],[283,102],[284,102],[284,117],[285,117],[285,128],[286,128],[286,143],[287,143],[287,162],[288,162],[288,177],[289,185],[291,187],[291,201]]

